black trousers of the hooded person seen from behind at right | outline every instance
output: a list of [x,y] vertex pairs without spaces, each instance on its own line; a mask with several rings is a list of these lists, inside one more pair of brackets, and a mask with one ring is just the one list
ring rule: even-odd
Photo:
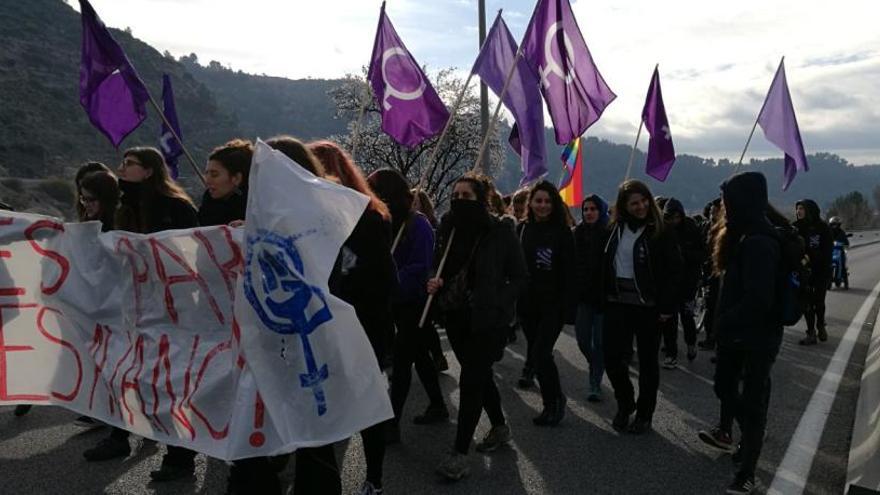
[[732,414],[742,431],[739,476],[755,475],[764,445],[770,402],[770,370],[775,359],[776,352],[772,350],[718,348],[715,395],[721,400],[722,422],[725,416],[729,422]]

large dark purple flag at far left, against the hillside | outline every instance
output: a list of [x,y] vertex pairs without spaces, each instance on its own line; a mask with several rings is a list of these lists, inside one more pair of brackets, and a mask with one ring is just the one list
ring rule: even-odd
[[88,0],[79,0],[79,5],[83,27],[79,101],[92,124],[118,148],[147,118],[150,96]]

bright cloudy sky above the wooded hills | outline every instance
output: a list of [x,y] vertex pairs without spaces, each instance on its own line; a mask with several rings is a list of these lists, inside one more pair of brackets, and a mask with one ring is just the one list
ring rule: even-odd
[[[255,74],[336,78],[368,63],[379,0],[91,0],[111,27],[175,56]],[[68,0],[75,6],[77,2]],[[520,38],[534,0],[486,0]],[[600,72],[618,95],[587,130],[632,144],[659,64],[676,151],[738,159],[785,56],[807,153],[880,164],[880,0],[572,0]],[[466,74],[477,0],[388,0],[416,60]],[[137,66],[137,61],[133,61]],[[547,120],[549,123],[549,119]],[[639,147],[647,146],[642,136]],[[781,156],[761,134],[749,158]]]

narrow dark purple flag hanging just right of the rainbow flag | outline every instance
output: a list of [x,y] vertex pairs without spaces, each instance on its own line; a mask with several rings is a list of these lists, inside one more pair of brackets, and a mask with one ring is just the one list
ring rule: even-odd
[[660,71],[656,67],[648,96],[645,98],[645,108],[642,109],[642,121],[651,135],[645,172],[660,182],[665,182],[675,163],[675,147],[672,146],[672,133],[669,130],[669,120],[666,119],[663,92],[660,91]]

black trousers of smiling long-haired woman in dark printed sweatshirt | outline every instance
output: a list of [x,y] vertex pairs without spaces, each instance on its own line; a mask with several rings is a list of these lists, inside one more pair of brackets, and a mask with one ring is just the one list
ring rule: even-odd
[[536,301],[523,314],[523,333],[528,344],[527,363],[538,378],[544,407],[562,397],[559,369],[553,359],[553,347],[562,333],[563,314],[556,302]]

